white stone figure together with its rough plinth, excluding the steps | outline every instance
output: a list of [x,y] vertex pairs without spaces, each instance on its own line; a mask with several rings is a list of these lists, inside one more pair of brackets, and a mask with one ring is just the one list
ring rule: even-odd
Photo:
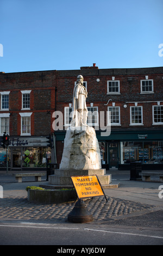
[[101,169],[101,155],[96,132],[86,124],[87,91],[83,86],[83,76],[77,76],[73,90],[72,121],[66,130],[64,151],[60,169],[66,170],[97,170]]

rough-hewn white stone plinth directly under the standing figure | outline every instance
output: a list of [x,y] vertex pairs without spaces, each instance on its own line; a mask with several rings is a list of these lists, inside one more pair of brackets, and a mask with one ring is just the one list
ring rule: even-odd
[[93,127],[71,126],[67,129],[60,169],[101,169],[101,155]]

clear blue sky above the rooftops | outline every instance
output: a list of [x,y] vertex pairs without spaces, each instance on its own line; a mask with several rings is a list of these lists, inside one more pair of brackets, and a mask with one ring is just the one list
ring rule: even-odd
[[163,0],[0,0],[0,71],[163,66]]

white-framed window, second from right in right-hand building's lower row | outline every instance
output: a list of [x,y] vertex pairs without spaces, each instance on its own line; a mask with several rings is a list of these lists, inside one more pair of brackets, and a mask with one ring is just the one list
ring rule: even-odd
[[142,106],[130,107],[130,125],[143,125]]

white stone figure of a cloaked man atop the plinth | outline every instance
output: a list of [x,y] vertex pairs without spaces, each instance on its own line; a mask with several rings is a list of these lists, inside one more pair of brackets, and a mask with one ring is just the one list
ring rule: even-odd
[[73,121],[72,126],[87,126],[87,107],[86,107],[87,91],[83,86],[83,76],[77,76],[77,82],[73,90]]

